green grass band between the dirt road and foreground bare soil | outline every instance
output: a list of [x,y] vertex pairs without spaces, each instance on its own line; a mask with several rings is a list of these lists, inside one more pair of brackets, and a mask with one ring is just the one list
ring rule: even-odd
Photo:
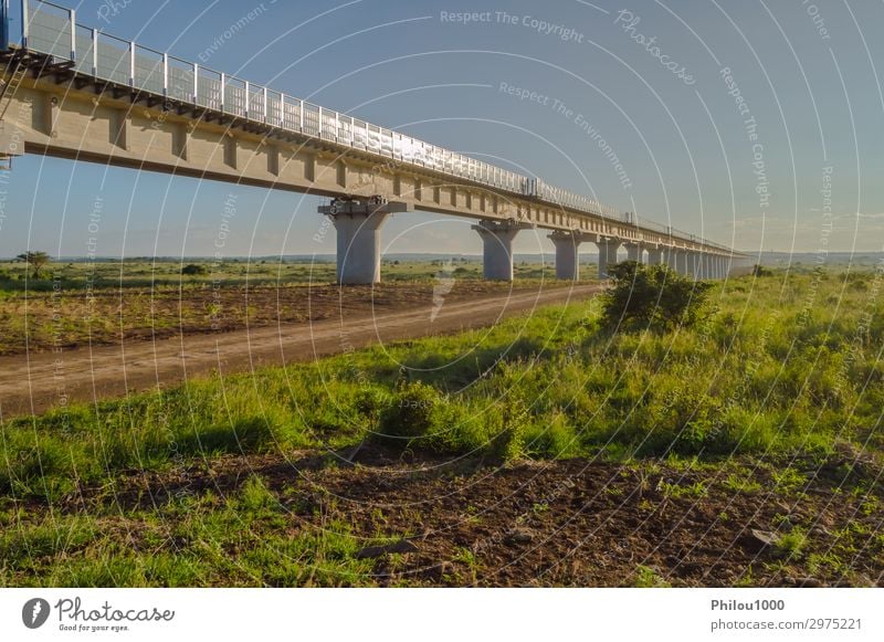
[[[882,315],[860,329],[864,295],[848,288],[839,309],[800,320],[810,278],[736,280],[691,330],[612,335],[592,323],[594,305],[551,307],[8,421],[0,492],[57,501],[133,469],[365,440],[498,460],[825,454],[839,441],[880,450]],[[818,296],[842,291],[823,283]],[[786,492],[804,481],[792,469],[776,475]]]

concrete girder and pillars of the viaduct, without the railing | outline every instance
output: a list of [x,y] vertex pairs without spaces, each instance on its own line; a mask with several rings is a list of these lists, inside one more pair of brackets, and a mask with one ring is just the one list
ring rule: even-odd
[[343,283],[380,278],[380,230],[390,211],[478,220],[486,278],[512,280],[512,242],[527,228],[551,232],[557,276],[567,280],[579,278],[578,246],[586,241],[599,248],[602,278],[621,246],[632,260],[645,260],[648,251],[648,262],[664,262],[697,278],[725,276],[732,259],[702,242],[490,189],[334,140],[164,102],[49,63],[25,60],[25,74],[3,76],[8,95],[0,156],[39,154],[358,203],[346,217],[323,210],[338,232]]

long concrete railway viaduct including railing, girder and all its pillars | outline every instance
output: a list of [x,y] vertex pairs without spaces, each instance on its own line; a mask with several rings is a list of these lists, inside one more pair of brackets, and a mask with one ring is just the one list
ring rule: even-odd
[[[484,275],[512,281],[513,240],[543,229],[558,278],[579,278],[594,243],[599,277],[632,261],[722,278],[729,248],[639,221],[543,180],[443,149],[124,41],[51,2],[0,0],[0,158],[41,154],[329,197],[338,281],[380,281],[380,234],[396,212],[476,220]],[[12,29],[11,24],[19,25]]]

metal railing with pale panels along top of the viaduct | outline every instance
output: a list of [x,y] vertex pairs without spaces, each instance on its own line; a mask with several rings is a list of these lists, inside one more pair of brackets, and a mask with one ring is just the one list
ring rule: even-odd
[[[9,0],[0,0],[4,44],[9,36]],[[418,138],[372,125],[359,118],[326,109],[269,87],[191,63],[133,41],[109,35],[76,22],[76,12],[44,0],[21,0],[23,50],[70,61],[74,70],[96,80],[126,85],[162,96],[354,149],[420,166],[488,187],[536,198],[540,201],[586,212],[639,230],[725,249],[693,234],[642,220],[639,223],[615,208],[594,199],[554,187],[507,169],[443,149]]]

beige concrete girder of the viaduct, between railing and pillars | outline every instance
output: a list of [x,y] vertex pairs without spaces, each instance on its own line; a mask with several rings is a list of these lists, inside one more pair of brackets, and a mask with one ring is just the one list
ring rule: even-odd
[[[130,87],[95,83],[88,73],[59,74],[34,59],[7,98],[4,120],[27,154],[40,154],[201,180],[219,180],[314,196],[367,199],[382,194],[415,209],[478,220],[522,220],[537,228],[666,244],[672,236],[515,194],[470,177],[392,159],[359,147],[232,118],[210,109],[165,110]],[[42,70],[42,71],[41,71]],[[10,71],[0,71],[10,81]],[[0,140],[2,144],[2,140]],[[680,240],[692,249],[702,243]]]

